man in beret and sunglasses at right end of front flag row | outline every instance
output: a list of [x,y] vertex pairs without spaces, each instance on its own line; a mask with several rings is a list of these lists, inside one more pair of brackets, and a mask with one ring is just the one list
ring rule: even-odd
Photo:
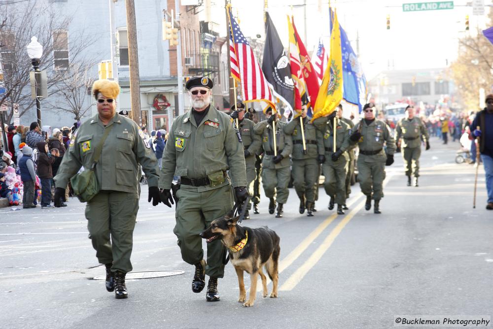
[[[371,209],[373,199],[373,212],[380,214],[380,199],[384,197],[385,166],[394,163],[395,140],[387,124],[375,118],[376,111],[373,103],[363,106],[364,118],[354,126],[350,141],[359,147],[358,181],[361,192],[366,195],[365,209]],[[384,143],[387,153],[384,151]]]

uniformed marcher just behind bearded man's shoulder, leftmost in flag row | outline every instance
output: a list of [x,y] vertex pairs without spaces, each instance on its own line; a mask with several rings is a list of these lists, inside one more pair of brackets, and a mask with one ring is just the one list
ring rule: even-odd
[[[249,195],[253,195],[253,183],[256,178],[255,171],[255,153],[258,152],[260,148],[260,136],[256,135],[254,132],[255,123],[252,120],[246,118],[245,109],[246,106],[243,102],[236,103],[236,110],[231,113],[231,117],[236,120],[238,119],[238,130],[243,141],[244,155],[245,155],[245,165],[246,165],[246,187]],[[251,203],[248,202],[246,205],[245,217],[244,219],[250,219],[249,210],[251,208]]]

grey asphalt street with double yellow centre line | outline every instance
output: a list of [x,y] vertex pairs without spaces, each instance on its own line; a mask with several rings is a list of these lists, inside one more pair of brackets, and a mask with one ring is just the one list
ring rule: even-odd
[[399,316],[491,316],[493,213],[485,210],[483,168],[473,209],[475,168],[454,163],[458,143],[431,142],[420,187],[406,186],[400,155],[387,167],[381,215],[364,210],[357,184],[344,216],[327,210],[323,188],[312,218],[298,213],[293,189],[283,219],[268,215],[263,198],[261,214],[244,225],[268,225],[281,237],[280,291],[257,292],[251,308],[237,302],[231,264],[219,302],[191,292],[194,268],[176,246],[174,210],[149,205],[146,186],[134,271],[185,273],[127,280],[124,300],[93,280],[105,269],[87,238],[83,204],[0,209],[0,328],[389,328]]

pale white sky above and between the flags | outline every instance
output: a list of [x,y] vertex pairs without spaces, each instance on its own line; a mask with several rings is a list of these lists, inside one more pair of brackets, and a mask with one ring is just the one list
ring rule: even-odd
[[[313,50],[319,37],[324,37],[328,48],[328,1],[307,2],[307,49]],[[454,9],[403,12],[402,3],[396,0],[341,0],[331,1],[337,8],[342,27],[346,30],[356,51],[356,32],[359,33],[359,53],[363,70],[368,78],[387,70],[388,60],[394,68],[419,69],[445,67],[457,57],[458,37],[465,33],[465,16],[469,15],[471,32],[476,25],[486,28],[484,16],[473,16],[472,7],[464,7],[467,0],[456,0]],[[491,3],[485,0],[485,3]],[[319,11],[319,3],[321,10]],[[211,20],[220,24],[221,35],[226,34],[224,1],[211,0]],[[246,37],[260,34],[263,28],[263,0],[231,0],[233,14],[240,20]],[[304,36],[303,0],[269,0],[269,12],[285,46],[288,43],[286,14],[293,14],[301,37]],[[201,19],[204,19],[202,12]],[[386,17],[390,15],[390,30]],[[223,32],[224,31],[224,32]]]

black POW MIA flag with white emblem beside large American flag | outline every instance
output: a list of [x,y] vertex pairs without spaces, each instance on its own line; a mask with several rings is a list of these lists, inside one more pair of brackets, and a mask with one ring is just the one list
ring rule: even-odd
[[284,52],[281,39],[269,13],[266,13],[266,16],[262,71],[274,91],[274,95],[292,111],[294,106],[294,82],[291,78],[289,58]]

